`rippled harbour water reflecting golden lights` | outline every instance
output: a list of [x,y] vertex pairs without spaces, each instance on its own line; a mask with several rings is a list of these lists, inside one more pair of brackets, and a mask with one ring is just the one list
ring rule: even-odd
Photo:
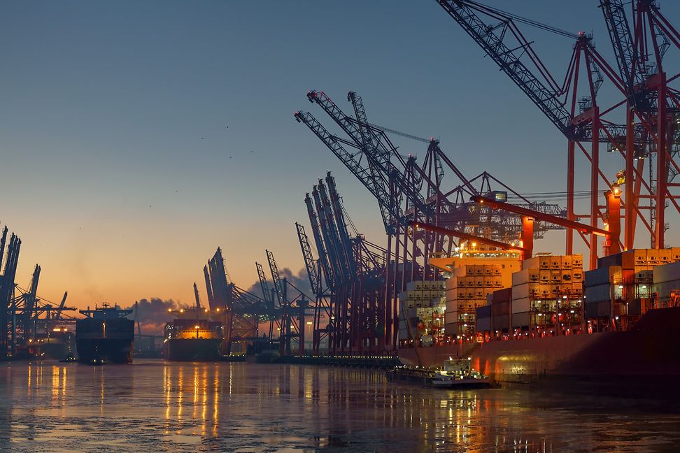
[[18,452],[680,451],[667,403],[260,364],[0,365],[0,450]]

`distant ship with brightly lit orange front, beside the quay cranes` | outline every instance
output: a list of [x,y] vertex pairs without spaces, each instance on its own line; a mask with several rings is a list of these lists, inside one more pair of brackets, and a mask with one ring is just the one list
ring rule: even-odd
[[171,361],[215,361],[222,357],[221,347],[225,341],[224,324],[215,318],[215,312],[195,308],[168,310],[176,316],[165,325],[163,357]]

